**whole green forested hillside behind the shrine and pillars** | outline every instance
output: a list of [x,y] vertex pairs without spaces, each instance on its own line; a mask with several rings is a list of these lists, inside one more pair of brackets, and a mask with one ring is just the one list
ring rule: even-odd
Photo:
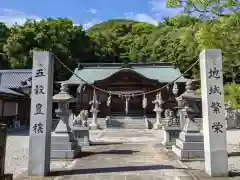
[[[12,27],[0,24],[2,69],[31,68],[30,52],[41,49],[52,51],[72,69],[76,62],[172,62],[184,71],[204,48],[222,49],[224,76],[231,78],[232,68],[240,64],[239,13],[215,20],[181,15],[158,26],[113,19],[87,31],[69,19],[29,20]],[[66,78],[66,70],[57,68],[58,77]],[[198,76],[197,68],[189,75]]]

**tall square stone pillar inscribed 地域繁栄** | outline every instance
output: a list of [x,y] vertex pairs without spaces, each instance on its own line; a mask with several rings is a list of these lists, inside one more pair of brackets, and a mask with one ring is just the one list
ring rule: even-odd
[[228,176],[221,50],[201,52],[200,73],[205,171],[212,177]]

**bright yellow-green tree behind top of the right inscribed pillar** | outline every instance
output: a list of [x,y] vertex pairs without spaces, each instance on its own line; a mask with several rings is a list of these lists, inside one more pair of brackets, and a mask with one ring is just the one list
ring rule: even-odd
[[240,68],[240,14],[221,17],[219,21],[204,22],[196,39],[200,49],[219,48],[223,53],[225,79],[231,79],[234,67]]

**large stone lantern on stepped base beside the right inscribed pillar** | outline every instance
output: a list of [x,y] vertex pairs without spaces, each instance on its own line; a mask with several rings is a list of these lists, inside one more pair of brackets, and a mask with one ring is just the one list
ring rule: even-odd
[[185,125],[181,131],[176,144],[172,150],[181,159],[204,158],[203,135],[194,117],[197,116],[197,110],[194,108],[201,97],[196,95],[192,87],[192,81],[186,83],[186,91],[178,97],[184,104],[183,114],[185,116]]

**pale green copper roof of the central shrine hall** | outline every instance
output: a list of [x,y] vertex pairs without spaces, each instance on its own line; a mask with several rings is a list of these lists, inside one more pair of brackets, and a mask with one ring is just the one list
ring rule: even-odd
[[[129,64],[127,67],[124,67],[123,64],[95,64],[95,66],[90,64],[84,66],[84,64],[81,64],[81,66],[81,68],[76,68],[74,73],[89,84],[104,80],[120,71],[134,71],[144,78],[163,83],[172,82],[181,75],[179,69],[169,64]],[[186,81],[187,79],[184,77],[177,80],[177,82]],[[74,74],[65,82],[68,84],[85,84]]]

